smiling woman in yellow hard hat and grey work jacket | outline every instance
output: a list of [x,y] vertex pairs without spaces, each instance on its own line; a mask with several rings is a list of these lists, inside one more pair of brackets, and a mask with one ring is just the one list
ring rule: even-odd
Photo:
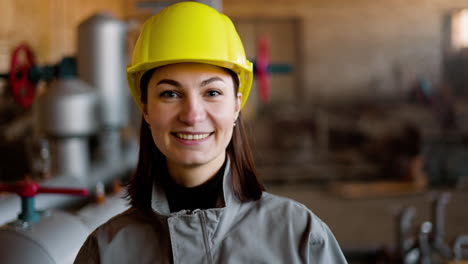
[[346,263],[326,224],[257,178],[240,115],[252,64],[229,18],[169,6],[145,23],[127,72],[143,113],[132,208],[75,263]]

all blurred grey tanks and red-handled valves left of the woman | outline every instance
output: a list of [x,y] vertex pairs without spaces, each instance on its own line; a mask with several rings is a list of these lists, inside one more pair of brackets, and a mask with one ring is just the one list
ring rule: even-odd
[[[76,58],[38,66],[27,45],[13,51],[0,77],[27,117],[27,178],[40,183],[0,184],[9,192],[0,194],[0,263],[72,263],[90,232],[128,208],[121,192],[102,194],[136,165],[136,140],[122,134],[130,108],[126,38],[126,23],[97,14],[78,28]],[[100,202],[76,209],[90,201],[88,190]],[[72,205],[73,213],[63,211]]]

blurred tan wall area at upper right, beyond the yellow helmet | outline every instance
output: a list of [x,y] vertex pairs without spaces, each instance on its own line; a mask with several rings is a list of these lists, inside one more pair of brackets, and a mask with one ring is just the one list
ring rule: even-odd
[[305,99],[404,96],[417,77],[441,82],[443,18],[468,0],[224,0],[236,18],[301,21]]

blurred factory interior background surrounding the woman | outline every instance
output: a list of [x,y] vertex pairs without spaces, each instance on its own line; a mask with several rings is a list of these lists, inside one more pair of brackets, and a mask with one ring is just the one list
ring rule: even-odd
[[[2,0],[0,263],[72,263],[128,208],[125,69],[174,2]],[[256,67],[242,116],[269,192],[327,223],[349,263],[468,263],[468,0],[199,2]]]

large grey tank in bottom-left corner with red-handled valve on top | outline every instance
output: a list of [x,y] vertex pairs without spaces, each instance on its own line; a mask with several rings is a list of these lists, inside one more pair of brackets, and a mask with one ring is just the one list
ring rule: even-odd
[[18,219],[0,227],[0,263],[68,264],[75,259],[90,230],[79,218],[64,212],[36,210],[40,193],[86,196],[86,189],[39,186],[32,181],[0,184],[0,191],[21,197]]

